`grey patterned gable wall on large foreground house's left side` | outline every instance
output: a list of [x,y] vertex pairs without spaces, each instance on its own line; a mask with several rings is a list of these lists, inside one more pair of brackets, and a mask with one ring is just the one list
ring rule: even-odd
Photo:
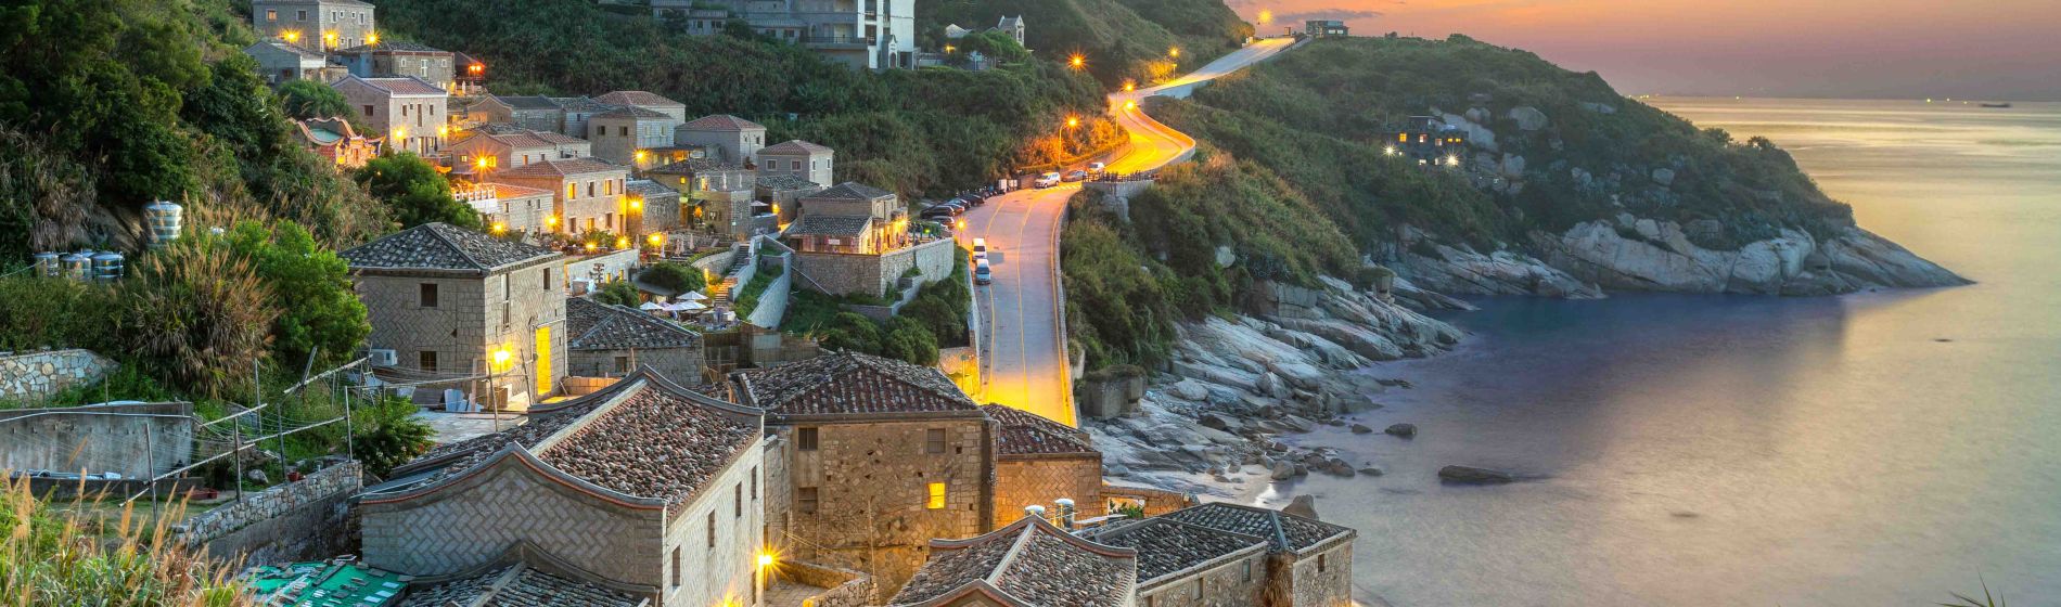
[[365,564],[412,576],[453,574],[530,541],[602,578],[660,578],[664,510],[629,508],[577,492],[509,457],[435,494],[400,502],[367,496]]

